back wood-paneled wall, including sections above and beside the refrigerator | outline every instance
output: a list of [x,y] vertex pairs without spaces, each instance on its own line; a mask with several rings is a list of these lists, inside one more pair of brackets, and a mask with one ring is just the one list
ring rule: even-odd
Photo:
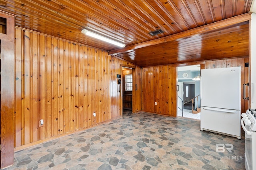
[[[249,81],[249,68],[244,67],[244,63],[249,62],[249,57],[234,59],[221,59],[212,61],[202,61],[201,69],[206,68],[223,68],[241,66],[241,112],[248,109],[248,100],[243,99],[243,84]],[[190,65],[182,64],[182,66]],[[154,66],[142,68],[142,110],[152,113],[160,113],[176,117],[177,96],[176,96],[176,66]],[[248,91],[246,96],[248,96]],[[157,105],[155,105],[157,102]]]

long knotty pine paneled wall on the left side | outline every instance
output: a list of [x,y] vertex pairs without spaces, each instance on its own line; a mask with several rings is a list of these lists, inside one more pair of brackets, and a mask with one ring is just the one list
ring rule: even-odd
[[15,45],[15,147],[121,116],[116,74],[134,65],[20,28]]

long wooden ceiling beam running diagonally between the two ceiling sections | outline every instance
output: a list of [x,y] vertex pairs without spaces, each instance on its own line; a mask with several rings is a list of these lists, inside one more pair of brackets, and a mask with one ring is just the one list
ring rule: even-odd
[[168,41],[174,41],[176,39],[180,39],[180,38],[184,38],[184,37],[190,37],[192,35],[206,33],[208,31],[213,31],[215,29],[220,29],[222,27],[227,27],[227,26],[230,26],[230,25],[234,25],[236,23],[241,23],[241,22],[244,22],[244,21],[248,21],[250,19],[251,19],[251,13],[246,13],[246,14],[235,16],[235,17],[232,17],[232,18],[228,18],[226,20],[221,20],[221,21],[217,21],[215,23],[210,23],[208,25],[203,25],[201,27],[190,29],[188,31],[184,31],[184,32],[177,33],[177,34],[174,34],[174,35],[169,35],[169,36],[162,37],[162,38],[159,38],[159,39],[146,41],[144,43],[131,45],[131,46],[128,46],[128,47],[124,47],[122,49],[112,50],[112,51],[109,52],[109,54],[126,53],[130,50],[134,50],[134,49],[138,49],[138,48],[142,48],[142,47],[147,47],[147,46],[151,46],[151,45],[156,45],[156,44],[160,44],[160,43],[164,43],[164,42],[168,42]]

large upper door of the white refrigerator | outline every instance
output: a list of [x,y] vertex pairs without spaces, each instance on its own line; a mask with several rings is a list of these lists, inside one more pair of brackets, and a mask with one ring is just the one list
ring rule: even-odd
[[240,110],[240,66],[205,69],[201,75],[201,106]]

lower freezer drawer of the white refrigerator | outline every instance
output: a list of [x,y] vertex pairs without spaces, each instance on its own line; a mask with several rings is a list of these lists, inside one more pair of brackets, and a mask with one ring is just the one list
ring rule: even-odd
[[240,111],[201,107],[201,130],[241,137]]

